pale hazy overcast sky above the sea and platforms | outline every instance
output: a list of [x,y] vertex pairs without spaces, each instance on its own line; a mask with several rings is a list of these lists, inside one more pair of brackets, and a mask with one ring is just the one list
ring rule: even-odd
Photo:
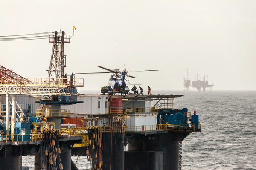
[[[134,72],[144,89],[183,90],[183,77],[205,73],[212,90],[256,90],[255,0],[2,0],[0,36],[65,31],[67,75]],[[47,78],[48,39],[0,41],[0,65],[25,78]],[[76,75],[81,89],[106,86],[111,74]],[[131,86],[131,85],[130,85]],[[192,89],[192,88],[191,88]]]

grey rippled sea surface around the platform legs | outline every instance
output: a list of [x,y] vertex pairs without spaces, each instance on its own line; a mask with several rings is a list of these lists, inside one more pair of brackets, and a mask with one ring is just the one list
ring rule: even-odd
[[[184,95],[174,108],[196,110],[201,132],[182,142],[182,170],[256,170],[256,91],[154,91]],[[86,170],[85,156],[72,156]],[[103,160],[104,161],[104,160]],[[34,156],[23,157],[23,166],[34,169]]]

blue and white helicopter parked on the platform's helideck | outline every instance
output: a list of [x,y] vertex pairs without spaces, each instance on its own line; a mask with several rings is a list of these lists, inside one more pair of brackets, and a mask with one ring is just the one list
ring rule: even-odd
[[[102,73],[112,73],[111,77],[108,80],[108,86],[102,86],[101,87],[101,93],[103,95],[107,94],[128,94],[130,91],[129,87],[125,83],[127,81],[129,84],[129,78],[136,78],[134,76],[128,75],[128,71],[126,68],[123,71],[120,71],[120,69],[108,69],[102,66],[98,66],[99,68],[105,69],[108,72],[87,72],[87,73],[75,73],[75,74],[102,74]],[[131,72],[148,72],[148,71],[159,71],[158,69],[155,70],[142,70],[142,71],[131,71]],[[74,74],[74,75],[75,75]],[[125,76],[127,76],[128,80],[125,79]]]

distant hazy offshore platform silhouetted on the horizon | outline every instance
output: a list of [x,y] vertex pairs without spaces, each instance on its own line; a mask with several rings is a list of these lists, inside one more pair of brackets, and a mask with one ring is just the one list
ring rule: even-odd
[[[208,78],[208,76],[207,76]],[[208,80],[205,80],[205,77],[203,78],[203,81],[201,81],[201,78],[198,78],[198,74],[195,76],[195,81],[192,81],[192,85],[191,85],[191,81],[189,79],[189,69],[187,70],[187,78],[184,77],[184,91],[189,91],[189,87],[194,87],[197,89],[198,92],[201,92],[201,88],[203,88],[203,92],[205,92],[205,88],[209,88],[209,91],[212,91],[212,86],[214,86],[213,84],[213,80],[212,80],[212,85],[208,84]]]

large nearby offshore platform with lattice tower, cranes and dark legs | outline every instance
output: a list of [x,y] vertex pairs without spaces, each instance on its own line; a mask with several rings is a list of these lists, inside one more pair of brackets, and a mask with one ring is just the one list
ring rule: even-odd
[[72,155],[88,170],[181,170],[183,139],[201,131],[195,111],[174,108],[183,95],[81,95],[83,79],[64,75],[70,35],[49,42],[48,78],[0,66],[1,170],[28,170],[29,154],[35,170],[78,170]]

